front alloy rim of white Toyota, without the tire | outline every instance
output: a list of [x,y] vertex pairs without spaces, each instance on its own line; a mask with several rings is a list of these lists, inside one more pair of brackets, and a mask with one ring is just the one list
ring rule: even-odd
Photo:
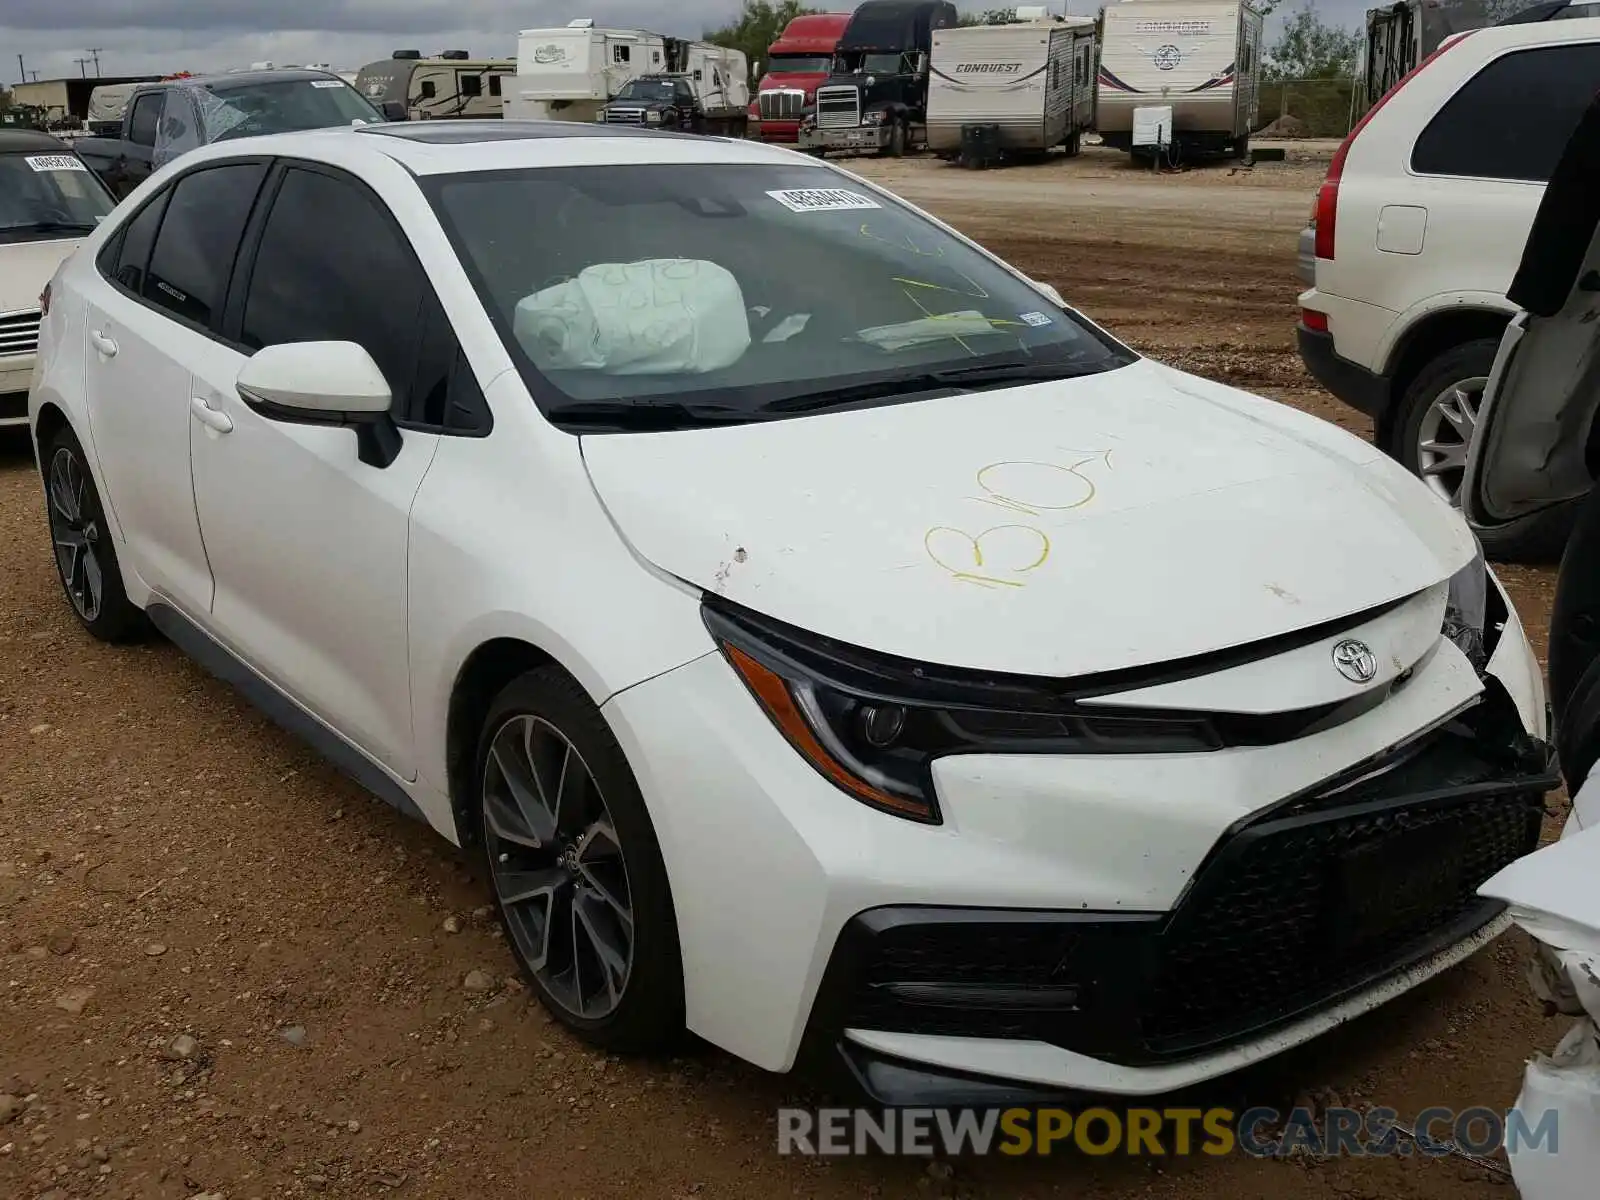
[[510,717],[483,770],[494,894],[523,962],[584,1021],[616,1011],[634,968],[627,862],[578,747],[541,717]]

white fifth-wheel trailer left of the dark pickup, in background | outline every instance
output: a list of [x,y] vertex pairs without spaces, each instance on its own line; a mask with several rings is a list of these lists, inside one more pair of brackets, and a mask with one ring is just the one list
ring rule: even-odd
[[517,78],[506,117],[592,122],[622,85],[667,70],[666,38],[642,29],[595,29],[579,18],[517,37]]

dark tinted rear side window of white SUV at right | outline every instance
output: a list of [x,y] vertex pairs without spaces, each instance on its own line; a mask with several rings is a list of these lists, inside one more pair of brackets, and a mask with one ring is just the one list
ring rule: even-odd
[[1547,182],[1597,85],[1597,42],[1498,58],[1427,123],[1411,149],[1411,170]]

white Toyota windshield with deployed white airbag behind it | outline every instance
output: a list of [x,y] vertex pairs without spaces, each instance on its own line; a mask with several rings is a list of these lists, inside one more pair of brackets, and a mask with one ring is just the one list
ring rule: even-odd
[[[424,181],[552,419],[597,405],[760,419],[930,373],[1131,352],[896,200],[826,166],[531,168]],[[574,410],[581,405],[581,410]],[[656,414],[658,419],[662,413]],[[667,422],[674,424],[674,422]]]

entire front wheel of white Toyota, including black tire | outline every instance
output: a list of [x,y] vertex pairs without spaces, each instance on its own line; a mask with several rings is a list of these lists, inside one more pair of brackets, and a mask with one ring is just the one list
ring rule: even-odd
[[605,717],[557,667],[512,680],[477,758],[485,867],[517,963],[603,1050],[683,1030],[677,917],[656,830]]

